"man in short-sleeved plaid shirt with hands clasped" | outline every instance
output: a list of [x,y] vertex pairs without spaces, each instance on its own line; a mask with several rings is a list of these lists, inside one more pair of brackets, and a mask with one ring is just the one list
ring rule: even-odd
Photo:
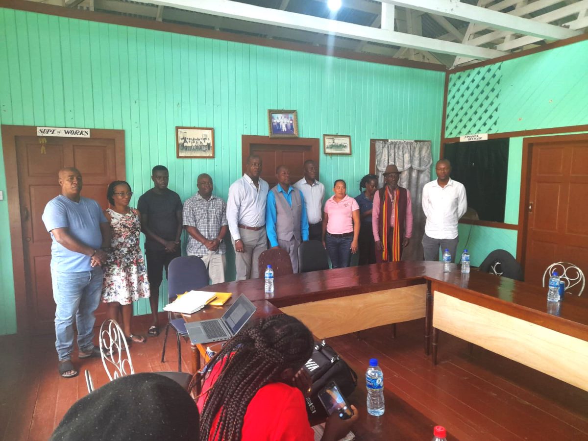
[[203,260],[213,284],[221,283],[225,281],[226,266],[226,203],[212,194],[211,176],[202,173],[196,185],[198,193],[183,205],[183,226],[188,232],[186,252]]

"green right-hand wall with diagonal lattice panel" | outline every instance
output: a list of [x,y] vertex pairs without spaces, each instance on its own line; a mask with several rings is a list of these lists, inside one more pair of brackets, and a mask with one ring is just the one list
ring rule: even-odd
[[[449,77],[446,136],[502,133],[588,123],[588,41]],[[505,222],[519,222],[523,138],[511,138]],[[459,248],[473,265],[489,252],[516,255],[517,231],[460,225]]]

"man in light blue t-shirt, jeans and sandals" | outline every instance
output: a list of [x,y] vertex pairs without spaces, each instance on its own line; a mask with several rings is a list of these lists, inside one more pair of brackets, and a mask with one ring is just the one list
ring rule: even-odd
[[71,362],[74,318],[79,358],[100,356],[93,340],[94,311],[102,293],[105,249],[111,229],[98,202],[82,198],[82,175],[75,168],[59,171],[61,195],[45,206],[42,219],[51,233],[51,280],[55,299],[55,349],[61,376],[78,375]]

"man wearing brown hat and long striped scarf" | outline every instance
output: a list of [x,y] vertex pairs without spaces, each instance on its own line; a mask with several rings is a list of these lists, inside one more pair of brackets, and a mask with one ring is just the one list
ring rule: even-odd
[[372,230],[376,241],[377,262],[397,262],[412,236],[410,192],[398,186],[400,172],[389,164],[384,172],[383,188],[373,198]]

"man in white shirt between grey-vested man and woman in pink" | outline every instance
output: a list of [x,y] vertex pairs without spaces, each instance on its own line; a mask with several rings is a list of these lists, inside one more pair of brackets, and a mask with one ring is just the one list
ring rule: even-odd
[[325,186],[316,180],[319,170],[316,162],[308,159],[304,162],[304,177],[294,186],[304,196],[306,216],[308,217],[308,240],[322,241],[323,234],[323,199]]

